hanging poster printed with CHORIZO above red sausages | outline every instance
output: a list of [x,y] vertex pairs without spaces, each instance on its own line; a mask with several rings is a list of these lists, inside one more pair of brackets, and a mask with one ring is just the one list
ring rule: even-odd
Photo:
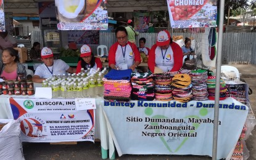
[[167,0],[172,28],[217,26],[217,0]]

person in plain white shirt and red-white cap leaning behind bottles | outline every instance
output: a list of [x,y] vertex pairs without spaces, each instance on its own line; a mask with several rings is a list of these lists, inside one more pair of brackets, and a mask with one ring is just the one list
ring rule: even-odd
[[36,68],[33,82],[41,83],[53,74],[76,73],[76,68],[68,66],[63,60],[54,60],[52,50],[47,47],[41,50],[41,59],[44,63]]

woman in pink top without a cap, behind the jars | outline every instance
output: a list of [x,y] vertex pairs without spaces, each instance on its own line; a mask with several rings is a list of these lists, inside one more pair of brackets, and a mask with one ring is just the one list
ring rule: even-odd
[[18,50],[8,47],[2,52],[1,78],[16,80],[18,74],[27,76],[26,68],[20,63]]

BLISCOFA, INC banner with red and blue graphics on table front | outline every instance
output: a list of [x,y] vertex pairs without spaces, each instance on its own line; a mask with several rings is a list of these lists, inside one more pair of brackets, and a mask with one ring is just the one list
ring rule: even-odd
[[94,110],[77,111],[73,99],[10,98],[23,142],[94,142]]

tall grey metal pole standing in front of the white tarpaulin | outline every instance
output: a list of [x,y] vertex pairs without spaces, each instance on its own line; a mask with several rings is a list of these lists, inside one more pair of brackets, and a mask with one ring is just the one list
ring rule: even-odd
[[220,0],[220,22],[218,30],[218,49],[217,49],[217,63],[216,63],[216,88],[215,88],[215,107],[214,107],[214,122],[213,122],[213,147],[212,159],[217,159],[217,142],[218,142],[218,111],[220,102],[220,70],[221,70],[221,52],[223,39],[223,18],[224,18],[225,0]]

